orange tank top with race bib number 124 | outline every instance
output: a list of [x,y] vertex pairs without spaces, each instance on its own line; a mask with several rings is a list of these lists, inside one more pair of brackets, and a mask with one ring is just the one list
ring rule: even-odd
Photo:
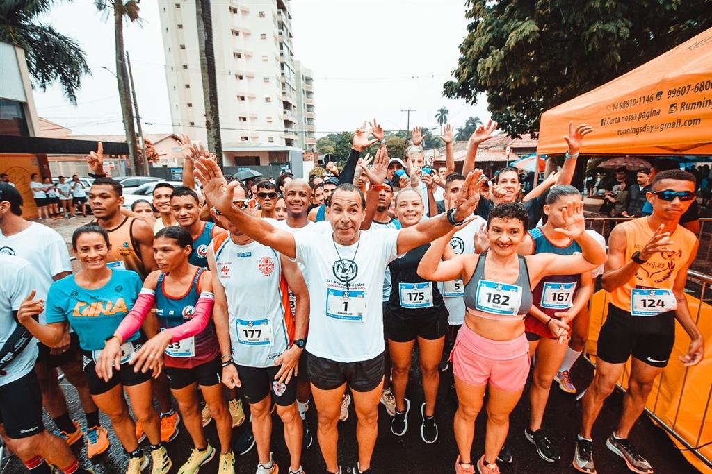
[[[650,228],[647,217],[629,220],[618,225],[625,230],[627,247],[625,249],[625,262],[631,260],[632,254],[643,249],[645,244],[653,237],[654,230]],[[624,311],[632,311],[632,301],[636,301],[640,312],[638,316],[653,316],[655,308],[647,308],[651,303],[660,304],[660,308],[669,311],[669,305],[656,297],[656,292],[671,290],[680,268],[690,258],[690,252],[695,246],[697,238],[685,227],[678,225],[670,239],[673,243],[668,245],[667,252],[658,252],[642,264],[634,276],[624,285],[619,286],[610,293],[614,306]],[[647,290],[647,291],[642,291]],[[636,297],[633,298],[634,293]],[[651,296],[644,301],[646,296]],[[672,305],[676,306],[674,303]]]

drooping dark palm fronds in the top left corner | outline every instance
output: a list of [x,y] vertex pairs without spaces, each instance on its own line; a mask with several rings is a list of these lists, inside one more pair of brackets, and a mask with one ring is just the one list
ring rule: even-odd
[[76,105],[82,76],[91,72],[84,50],[72,38],[38,21],[54,3],[55,0],[0,1],[0,41],[25,50],[34,85],[46,90],[59,80],[65,97]]

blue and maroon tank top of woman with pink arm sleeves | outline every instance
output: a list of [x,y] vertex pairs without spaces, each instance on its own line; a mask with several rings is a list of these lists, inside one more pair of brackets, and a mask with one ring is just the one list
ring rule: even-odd
[[[195,305],[200,296],[198,281],[204,271],[203,268],[197,269],[190,289],[178,298],[165,293],[163,283],[166,274],[159,275],[156,285],[156,316],[161,328],[175,328],[194,316]],[[213,360],[218,354],[215,328],[213,322],[209,321],[197,335],[182,341],[174,341],[169,345],[165,362],[167,367],[195,367]]]

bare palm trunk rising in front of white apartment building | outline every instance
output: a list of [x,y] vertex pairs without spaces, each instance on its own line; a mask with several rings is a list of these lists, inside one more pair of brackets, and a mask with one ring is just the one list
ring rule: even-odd
[[208,134],[208,149],[215,153],[218,164],[223,166],[210,0],[196,0],[195,15],[198,29],[198,51],[200,55],[200,74],[203,82],[205,131]]

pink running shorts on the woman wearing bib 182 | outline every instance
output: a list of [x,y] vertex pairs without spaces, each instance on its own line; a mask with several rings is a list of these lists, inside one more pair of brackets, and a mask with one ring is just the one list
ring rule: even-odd
[[524,333],[512,340],[491,340],[464,324],[450,360],[453,374],[466,384],[518,392],[529,376],[529,343]]

